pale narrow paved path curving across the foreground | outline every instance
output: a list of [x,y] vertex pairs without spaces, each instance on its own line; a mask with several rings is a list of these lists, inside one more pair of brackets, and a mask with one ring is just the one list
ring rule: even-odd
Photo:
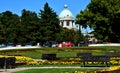
[[27,70],[27,69],[53,69],[53,68],[84,68],[84,69],[105,69],[108,67],[80,67],[80,66],[63,66],[63,67],[58,67],[58,66],[49,66],[49,67],[24,67],[24,68],[15,68],[15,69],[0,69],[0,73],[12,73],[16,71],[21,71],[21,70]]

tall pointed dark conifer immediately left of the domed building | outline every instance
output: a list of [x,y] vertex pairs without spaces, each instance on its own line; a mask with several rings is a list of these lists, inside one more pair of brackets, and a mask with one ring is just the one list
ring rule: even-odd
[[39,18],[40,32],[42,34],[41,42],[55,41],[56,34],[60,31],[59,19],[48,3],[45,3],[44,9],[40,10]]

